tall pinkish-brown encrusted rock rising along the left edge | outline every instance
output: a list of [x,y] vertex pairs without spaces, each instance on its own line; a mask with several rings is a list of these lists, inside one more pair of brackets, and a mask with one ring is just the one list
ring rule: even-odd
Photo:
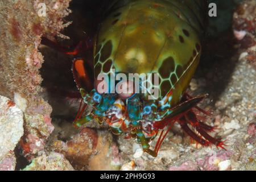
[[51,106],[40,96],[38,52],[41,36],[61,36],[69,0],[44,1],[46,16],[39,16],[40,1],[1,1],[0,94],[11,98],[24,112],[22,148],[27,158],[43,150],[53,131]]

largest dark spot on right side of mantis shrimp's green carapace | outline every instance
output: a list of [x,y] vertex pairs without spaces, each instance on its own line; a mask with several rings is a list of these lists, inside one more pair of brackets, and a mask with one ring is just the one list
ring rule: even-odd
[[173,72],[175,69],[174,58],[172,56],[167,57],[163,60],[161,67],[159,68],[159,74],[162,78],[170,77],[170,73]]

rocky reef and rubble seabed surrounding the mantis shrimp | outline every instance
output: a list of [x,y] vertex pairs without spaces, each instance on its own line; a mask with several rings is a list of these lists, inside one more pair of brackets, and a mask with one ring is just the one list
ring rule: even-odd
[[93,33],[94,14],[84,20],[68,9],[69,0],[44,2],[47,16],[38,15],[39,1],[0,2],[0,170],[256,170],[254,0],[242,1],[233,27],[205,45],[188,89],[193,96],[209,93],[200,106],[212,111],[205,122],[216,126],[211,135],[225,140],[226,150],[197,145],[175,125],[156,158],[135,140],[112,135],[106,125],[72,127],[79,105],[73,56],[40,40],[75,44]]

